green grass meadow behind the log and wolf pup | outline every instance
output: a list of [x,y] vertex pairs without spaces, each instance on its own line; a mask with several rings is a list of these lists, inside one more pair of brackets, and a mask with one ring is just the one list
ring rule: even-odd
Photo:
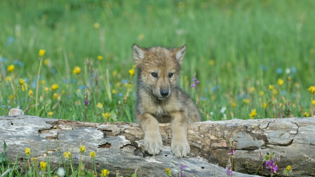
[[[25,112],[30,106],[28,115],[49,117],[52,111],[51,117],[82,121],[84,89],[77,90],[83,81],[91,85],[92,78],[87,120],[105,121],[96,107],[101,102],[104,113],[111,113],[109,121],[135,121],[136,78],[128,72],[134,64],[134,43],[144,47],[187,45],[180,83],[197,100],[196,90],[189,86],[196,72],[203,120],[247,119],[252,109],[257,111],[255,118],[282,117],[287,101],[291,102],[293,116],[303,116],[304,112],[310,115],[311,97],[306,89],[315,84],[314,5],[311,0],[1,1],[0,105],[6,107],[0,107],[0,115],[7,115],[9,106]],[[98,29],[93,27],[95,23],[100,24]],[[43,99],[36,111],[39,49],[46,50],[44,59],[49,64],[41,68],[40,78],[45,84],[40,84],[39,96]],[[100,63],[98,55],[104,57]],[[86,58],[93,61],[94,70],[98,69],[98,90]],[[215,64],[210,65],[210,60]],[[7,71],[11,64],[15,66],[13,73]],[[81,67],[79,76],[72,72],[75,66]],[[286,74],[286,68],[291,69],[290,74]],[[106,69],[110,88],[117,91],[112,101],[103,82]],[[278,74],[277,69],[283,72]],[[292,72],[294,69],[296,72]],[[8,76],[13,78],[15,95],[11,83],[5,81]],[[18,87],[19,78],[33,91],[31,101],[28,91]],[[279,78],[284,80],[282,86],[277,84]],[[124,79],[133,87],[124,86]],[[46,93],[44,87],[54,83],[59,89]],[[273,100],[270,84],[278,91]],[[255,91],[251,92],[251,87]],[[53,99],[54,93],[60,94],[60,100]],[[126,100],[120,95],[126,95]],[[243,102],[247,97],[248,104]],[[264,102],[268,105],[266,112],[261,106]],[[220,112],[222,107],[227,108],[226,117]]]

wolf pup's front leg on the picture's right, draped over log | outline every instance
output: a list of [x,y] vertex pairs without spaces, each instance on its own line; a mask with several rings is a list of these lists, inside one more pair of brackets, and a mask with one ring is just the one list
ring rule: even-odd
[[186,155],[190,152],[187,140],[187,113],[185,111],[174,112],[171,113],[170,116],[172,117],[172,152],[176,157],[186,157]]

